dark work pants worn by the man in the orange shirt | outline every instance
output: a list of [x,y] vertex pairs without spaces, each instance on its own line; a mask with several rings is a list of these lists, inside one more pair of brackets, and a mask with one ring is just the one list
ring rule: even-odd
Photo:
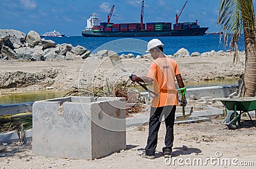
[[175,120],[176,106],[165,106],[165,107],[151,107],[150,119],[149,119],[149,131],[147,146],[145,148],[148,156],[154,156],[157,147],[157,136],[161,124],[161,119],[164,115],[164,121],[166,126],[164,149],[172,150],[173,146],[173,124]]

